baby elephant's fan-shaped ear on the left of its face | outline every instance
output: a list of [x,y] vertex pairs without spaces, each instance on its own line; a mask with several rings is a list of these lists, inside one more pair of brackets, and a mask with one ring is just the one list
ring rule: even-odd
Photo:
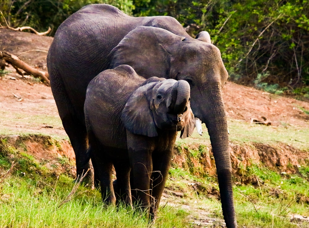
[[129,132],[148,137],[158,136],[148,100],[149,93],[158,80],[162,81],[162,79],[156,77],[146,80],[145,82],[148,81],[148,83],[145,84],[144,82],[145,85],[138,87],[125,104],[120,118]]

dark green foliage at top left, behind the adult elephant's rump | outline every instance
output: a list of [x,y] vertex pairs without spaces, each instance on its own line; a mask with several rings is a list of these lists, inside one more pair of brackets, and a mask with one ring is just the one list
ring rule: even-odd
[[[134,9],[131,0],[3,0],[0,10],[11,27],[30,26],[37,31],[57,27],[83,6],[106,3],[118,7],[127,14]],[[4,25],[3,18],[0,23]]]

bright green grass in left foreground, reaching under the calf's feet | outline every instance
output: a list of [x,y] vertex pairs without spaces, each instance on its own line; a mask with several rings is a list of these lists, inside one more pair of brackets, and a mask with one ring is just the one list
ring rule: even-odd
[[72,178],[47,170],[2,139],[0,181],[12,161],[15,167],[0,183],[0,227],[191,227],[188,212],[183,209],[168,205],[160,208],[152,224],[139,209],[104,205],[99,190],[83,186],[61,205],[74,186]]

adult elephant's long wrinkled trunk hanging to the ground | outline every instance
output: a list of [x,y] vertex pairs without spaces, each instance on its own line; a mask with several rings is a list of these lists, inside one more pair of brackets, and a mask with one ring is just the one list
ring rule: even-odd
[[205,94],[207,103],[204,103],[206,109],[203,108],[205,112],[202,114],[202,121],[205,122],[210,135],[226,227],[235,228],[237,222],[231,175],[231,154],[222,91],[220,85],[211,85],[205,91],[207,91]]

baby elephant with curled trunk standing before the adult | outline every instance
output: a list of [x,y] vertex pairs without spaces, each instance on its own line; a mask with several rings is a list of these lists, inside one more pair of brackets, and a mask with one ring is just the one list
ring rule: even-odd
[[132,206],[134,196],[143,209],[155,215],[177,131],[188,137],[194,129],[189,100],[188,82],[146,80],[129,65],[105,70],[91,80],[84,106],[88,152],[105,202],[116,201],[114,165],[121,201]]

